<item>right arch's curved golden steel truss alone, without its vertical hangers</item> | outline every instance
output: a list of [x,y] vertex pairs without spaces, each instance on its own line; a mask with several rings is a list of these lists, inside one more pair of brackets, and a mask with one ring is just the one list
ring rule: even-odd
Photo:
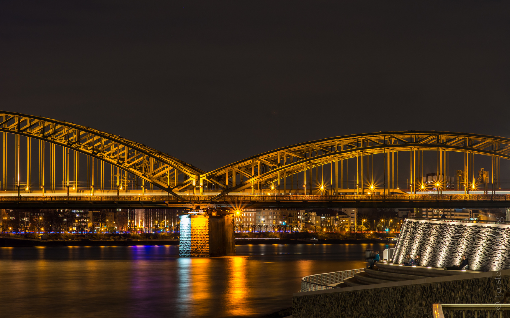
[[[248,188],[255,182],[272,182],[283,178],[284,171],[290,176],[310,165],[329,164],[333,160],[349,159],[361,153],[370,155],[386,151],[438,149],[510,159],[510,138],[448,131],[387,131],[337,136],[249,157],[203,174],[200,179],[224,189],[214,197],[217,199],[229,192]],[[237,174],[243,177],[240,184],[236,184],[235,177],[232,177]],[[229,178],[233,182],[228,182]]]

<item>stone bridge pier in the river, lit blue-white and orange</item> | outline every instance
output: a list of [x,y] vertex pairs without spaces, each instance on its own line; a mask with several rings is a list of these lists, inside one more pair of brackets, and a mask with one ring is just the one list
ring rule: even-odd
[[180,257],[236,255],[233,216],[184,214],[179,217]]

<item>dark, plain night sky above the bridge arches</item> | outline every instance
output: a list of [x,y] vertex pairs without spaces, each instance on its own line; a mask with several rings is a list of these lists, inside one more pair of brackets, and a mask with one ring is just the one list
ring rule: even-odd
[[510,3],[0,2],[0,109],[204,170],[362,132],[510,137]]

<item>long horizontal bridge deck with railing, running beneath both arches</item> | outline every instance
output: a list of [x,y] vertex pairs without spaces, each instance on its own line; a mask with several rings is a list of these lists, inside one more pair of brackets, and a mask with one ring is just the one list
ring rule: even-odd
[[0,196],[4,209],[507,208],[510,194]]

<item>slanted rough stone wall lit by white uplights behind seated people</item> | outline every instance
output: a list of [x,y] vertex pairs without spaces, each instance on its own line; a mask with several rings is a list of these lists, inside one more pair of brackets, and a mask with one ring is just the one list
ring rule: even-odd
[[510,269],[510,225],[406,219],[402,225],[394,263],[407,254],[421,255],[420,266],[458,265],[463,254],[469,269]]

